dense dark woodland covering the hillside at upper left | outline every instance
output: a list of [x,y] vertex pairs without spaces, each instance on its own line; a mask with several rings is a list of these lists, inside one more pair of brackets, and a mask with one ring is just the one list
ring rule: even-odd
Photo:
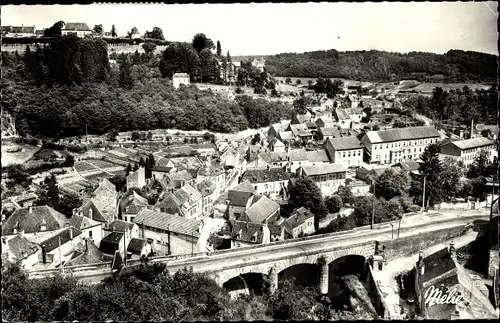
[[162,77],[162,57],[152,48],[120,55],[110,64],[106,47],[102,40],[59,37],[45,46],[27,46],[23,54],[2,52],[2,107],[16,118],[18,132],[52,138],[86,130],[233,132],[291,114],[291,106],[279,102],[230,101],[193,86],[175,90]]

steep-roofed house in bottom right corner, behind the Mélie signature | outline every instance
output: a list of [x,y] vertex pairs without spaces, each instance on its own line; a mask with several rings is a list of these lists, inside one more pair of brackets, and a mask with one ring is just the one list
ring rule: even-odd
[[[453,243],[427,257],[423,257],[423,252],[420,252],[413,273],[416,301],[421,314],[426,318],[448,320],[498,317],[482,278],[469,273],[457,262]],[[450,302],[451,304],[429,304],[426,301],[428,295],[436,290],[445,295],[454,294],[456,301]]]

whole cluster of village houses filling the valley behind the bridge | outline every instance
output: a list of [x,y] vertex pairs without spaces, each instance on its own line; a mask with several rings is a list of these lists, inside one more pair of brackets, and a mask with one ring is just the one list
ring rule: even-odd
[[[316,102],[289,121],[237,134],[118,133],[108,148],[76,154],[74,166],[56,176],[60,189],[84,199],[70,220],[49,206],[34,206],[35,190],[3,201],[15,211],[2,223],[2,252],[22,259],[27,269],[50,269],[115,254],[137,259],[206,253],[297,238],[316,230],[306,208],[280,216],[297,178],[311,178],[325,197],[341,186],[363,196],[372,194],[374,179],[388,168],[418,172],[429,144],[440,143],[441,157],[465,165],[482,150],[496,156],[494,142],[477,131],[468,139],[448,138],[432,126],[385,125],[360,135],[367,103],[348,89]],[[148,159],[155,160],[149,171]],[[127,167],[125,189],[117,189],[108,179]],[[35,176],[33,185],[44,178]],[[139,194],[155,190],[152,200]],[[325,221],[352,212],[344,207]]]

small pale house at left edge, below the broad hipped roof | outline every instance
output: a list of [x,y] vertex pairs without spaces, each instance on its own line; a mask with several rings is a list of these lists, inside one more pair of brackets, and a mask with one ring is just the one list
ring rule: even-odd
[[17,234],[11,239],[2,237],[2,263],[9,261],[21,262],[23,269],[31,269],[38,262],[41,247],[31,242],[22,234]]

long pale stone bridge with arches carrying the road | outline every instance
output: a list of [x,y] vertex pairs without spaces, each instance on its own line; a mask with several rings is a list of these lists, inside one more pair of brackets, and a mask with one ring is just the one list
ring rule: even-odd
[[[441,240],[460,236],[465,233],[466,228],[470,229],[470,224],[477,219],[488,219],[488,215],[440,215],[420,223],[403,222],[399,237],[395,235],[398,227],[394,222],[377,224],[373,230],[369,227],[356,228],[266,245],[216,251],[211,254],[156,257],[150,261],[164,263],[171,273],[183,268],[193,268],[194,272],[209,274],[221,286],[227,285],[231,280],[239,281],[238,284],[240,287],[243,286],[242,289],[251,287],[250,280],[245,279],[250,276],[268,279],[271,288],[277,288],[281,278],[314,276],[312,280],[320,284],[323,293],[327,293],[329,286],[331,288],[331,284],[327,283],[331,281],[330,276],[359,274],[363,271],[362,268],[357,268],[349,272],[349,268],[366,265],[367,260],[375,252],[376,241],[387,245],[386,256],[390,260],[404,256],[403,254],[417,253],[419,249],[440,243]],[[136,260],[128,261],[122,271],[129,271],[139,263]],[[337,275],[335,271],[339,270],[339,266],[343,266],[344,269]],[[304,268],[306,269],[303,270]],[[295,274],[291,273],[294,270]],[[51,276],[57,271],[58,269],[38,270],[30,272],[29,275],[30,278],[42,278]],[[113,275],[110,263],[66,267],[65,272],[89,283],[98,283]],[[309,282],[309,285],[311,283]]]

